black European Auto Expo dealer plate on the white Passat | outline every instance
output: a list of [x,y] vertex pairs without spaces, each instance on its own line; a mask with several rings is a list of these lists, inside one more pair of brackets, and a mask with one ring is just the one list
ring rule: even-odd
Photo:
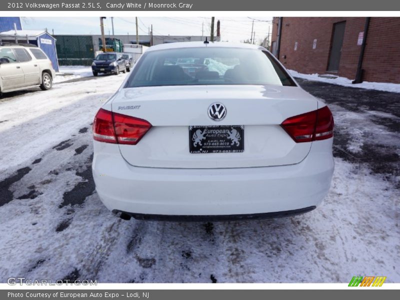
[[188,131],[190,153],[244,152],[244,125],[193,125]]

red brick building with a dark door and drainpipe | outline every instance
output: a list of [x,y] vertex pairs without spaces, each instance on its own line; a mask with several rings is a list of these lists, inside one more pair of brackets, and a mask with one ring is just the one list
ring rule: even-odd
[[400,17],[274,17],[272,24],[271,51],[289,69],[350,79],[360,69],[361,80],[400,83]]

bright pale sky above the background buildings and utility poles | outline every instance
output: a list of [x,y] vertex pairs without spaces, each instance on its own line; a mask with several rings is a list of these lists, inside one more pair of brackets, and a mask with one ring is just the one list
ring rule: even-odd
[[[153,25],[154,35],[209,35],[211,17],[139,17],[140,35],[148,34],[148,27]],[[272,17],[217,17],[220,20],[221,39],[240,42],[250,39],[251,24],[254,20],[255,41],[259,43],[267,34],[268,26],[272,31]],[[98,17],[21,17],[23,29],[44,29],[54,34],[100,34]],[[115,34],[135,34],[135,18],[114,17]],[[111,17],[104,20],[105,34],[111,34]]]

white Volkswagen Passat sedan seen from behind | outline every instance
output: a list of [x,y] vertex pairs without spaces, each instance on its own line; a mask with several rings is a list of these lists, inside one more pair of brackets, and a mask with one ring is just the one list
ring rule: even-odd
[[266,49],[150,47],[93,122],[93,177],[122,218],[217,220],[315,208],[333,118]]

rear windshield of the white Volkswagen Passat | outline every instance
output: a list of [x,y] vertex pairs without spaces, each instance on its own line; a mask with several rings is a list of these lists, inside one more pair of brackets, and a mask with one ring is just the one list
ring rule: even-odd
[[295,86],[286,71],[267,52],[198,47],[144,53],[125,87],[202,84]]

